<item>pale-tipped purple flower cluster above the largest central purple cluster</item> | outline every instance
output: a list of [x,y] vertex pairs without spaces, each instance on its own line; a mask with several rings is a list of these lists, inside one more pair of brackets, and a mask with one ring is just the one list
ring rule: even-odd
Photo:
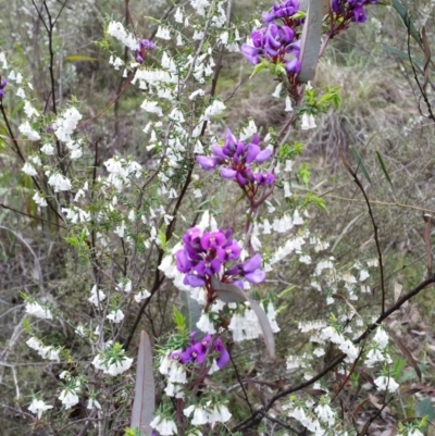
[[221,167],[224,178],[236,180],[240,186],[271,185],[275,182],[272,173],[253,173],[251,165],[268,161],[272,157],[269,149],[261,150],[260,138],[254,135],[250,144],[237,140],[229,128],[226,130],[225,144],[214,144],[212,157],[198,155],[197,161],[204,170]]

